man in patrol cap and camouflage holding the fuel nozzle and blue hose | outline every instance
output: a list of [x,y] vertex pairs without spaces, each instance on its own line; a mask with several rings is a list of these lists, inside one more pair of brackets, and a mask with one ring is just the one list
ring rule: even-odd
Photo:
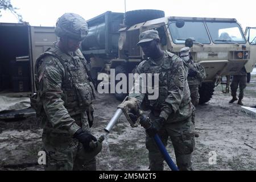
[[194,126],[191,122],[192,104],[185,79],[184,62],[168,51],[162,51],[156,30],[144,31],[139,35],[138,45],[142,47],[148,60],[142,61],[136,73],[159,74],[159,97],[149,100],[148,93],[135,93],[131,90],[129,97],[133,107],[141,104],[151,110],[149,115],[152,126],[146,130],[146,148],[150,169],[163,170],[163,156],[151,138],[158,133],[164,146],[170,137],[174,146],[177,167],[180,170],[192,170],[192,152],[195,148]]

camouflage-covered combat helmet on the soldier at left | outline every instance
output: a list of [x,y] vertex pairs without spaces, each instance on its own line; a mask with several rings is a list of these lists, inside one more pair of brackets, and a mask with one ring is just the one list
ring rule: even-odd
[[55,34],[59,37],[68,36],[81,41],[88,34],[88,24],[78,14],[65,13],[57,20]]

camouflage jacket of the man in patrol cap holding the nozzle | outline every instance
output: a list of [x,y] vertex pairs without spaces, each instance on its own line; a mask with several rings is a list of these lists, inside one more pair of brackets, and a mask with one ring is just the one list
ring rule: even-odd
[[144,60],[136,68],[135,73],[159,74],[159,97],[148,100],[148,93],[134,93],[131,90],[129,97],[137,98],[139,105],[149,106],[152,112],[158,111],[167,122],[183,121],[191,116],[192,105],[188,82],[185,79],[186,71],[180,57],[164,51],[164,56],[156,64],[154,60]]

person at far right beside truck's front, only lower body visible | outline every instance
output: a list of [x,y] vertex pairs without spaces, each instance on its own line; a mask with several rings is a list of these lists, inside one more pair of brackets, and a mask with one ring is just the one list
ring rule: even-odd
[[229,103],[233,103],[234,101],[237,101],[237,88],[238,88],[238,85],[239,85],[239,100],[237,102],[237,104],[239,105],[243,105],[242,103],[242,99],[243,99],[243,90],[245,90],[246,88],[246,81],[247,81],[247,72],[246,72],[246,69],[245,67],[243,67],[241,69],[240,72],[238,72],[236,75],[233,75],[233,78],[232,78],[232,82],[231,82],[231,85],[230,85],[230,88],[231,88],[231,95],[232,95],[232,100],[229,101]]

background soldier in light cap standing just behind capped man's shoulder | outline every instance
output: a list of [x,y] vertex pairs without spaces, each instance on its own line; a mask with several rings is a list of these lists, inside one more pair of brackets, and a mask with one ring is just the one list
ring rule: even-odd
[[[188,64],[188,86],[190,90],[191,102],[194,107],[199,104],[199,86],[201,81],[206,78],[205,69],[199,63],[195,63],[192,60],[189,47],[183,47],[180,49],[180,57]],[[192,122],[195,125],[195,108],[192,112]],[[199,137],[199,134],[195,132],[195,137]]]

